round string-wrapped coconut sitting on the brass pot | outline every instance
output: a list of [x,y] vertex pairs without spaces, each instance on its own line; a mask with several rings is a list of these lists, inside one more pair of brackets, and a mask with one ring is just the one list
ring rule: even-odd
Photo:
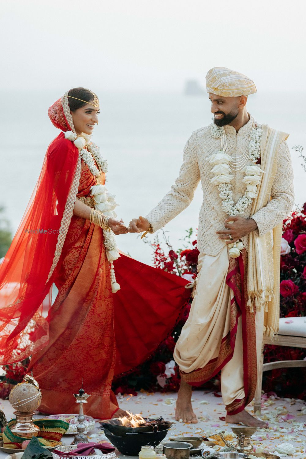
[[38,409],[41,394],[39,389],[30,382],[21,382],[12,388],[9,402],[15,410],[29,413]]

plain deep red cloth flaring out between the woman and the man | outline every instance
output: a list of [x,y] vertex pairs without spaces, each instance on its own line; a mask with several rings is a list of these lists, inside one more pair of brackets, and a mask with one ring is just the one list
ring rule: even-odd
[[121,254],[114,262],[121,290],[114,295],[115,375],[130,371],[174,328],[190,297],[188,281]]

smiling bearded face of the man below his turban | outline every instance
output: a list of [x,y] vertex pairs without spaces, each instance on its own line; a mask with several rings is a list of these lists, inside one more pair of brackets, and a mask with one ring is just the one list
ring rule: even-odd
[[209,94],[211,101],[211,113],[214,114],[214,123],[217,126],[225,126],[232,123],[239,113],[240,97],[221,97]]

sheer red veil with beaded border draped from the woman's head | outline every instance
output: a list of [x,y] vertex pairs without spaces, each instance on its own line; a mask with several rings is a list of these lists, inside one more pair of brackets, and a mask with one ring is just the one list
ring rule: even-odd
[[[66,93],[48,111],[62,131],[74,130]],[[0,364],[45,346],[52,283],[78,192],[81,159],[64,134],[51,142],[17,233],[0,265]]]

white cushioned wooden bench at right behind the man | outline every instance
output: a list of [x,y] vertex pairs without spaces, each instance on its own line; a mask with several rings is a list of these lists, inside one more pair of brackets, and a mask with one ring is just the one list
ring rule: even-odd
[[[289,320],[292,320],[292,323],[286,324],[285,322]],[[261,386],[263,371],[275,368],[306,367],[306,360],[283,360],[264,364],[263,347],[265,344],[306,348],[306,317],[283,317],[279,319],[278,337],[273,340],[271,340],[271,338],[263,338],[261,358],[257,374],[257,386],[254,397],[254,413],[261,411]]]

